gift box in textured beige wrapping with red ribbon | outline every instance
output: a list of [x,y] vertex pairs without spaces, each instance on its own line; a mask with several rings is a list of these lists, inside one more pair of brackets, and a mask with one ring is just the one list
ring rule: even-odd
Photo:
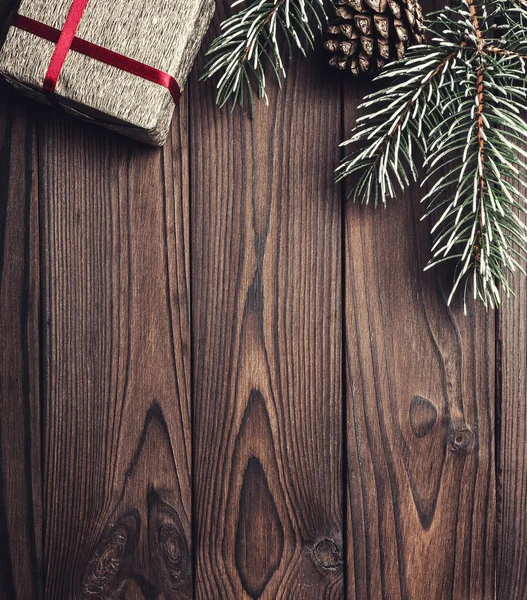
[[27,96],[160,146],[213,0],[22,0],[0,73]]

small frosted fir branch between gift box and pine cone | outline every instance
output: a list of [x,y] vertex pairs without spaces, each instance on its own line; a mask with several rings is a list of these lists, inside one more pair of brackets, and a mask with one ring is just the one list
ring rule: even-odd
[[220,76],[217,104],[221,107],[232,99],[243,105],[247,97],[252,110],[254,94],[267,101],[266,66],[279,84],[286,76],[282,37],[289,57],[293,47],[306,54],[326,18],[322,0],[257,0],[224,21],[207,52],[211,58],[202,77]]

